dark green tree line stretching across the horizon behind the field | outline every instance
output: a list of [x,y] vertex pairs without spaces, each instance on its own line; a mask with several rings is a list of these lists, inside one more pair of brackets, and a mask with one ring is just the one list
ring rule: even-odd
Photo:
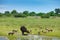
[[4,13],[0,12],[0,17],[27,17],[27,16],[40,16],[41,18],[49,18],[50,16],[58,16],[60,17],[60,8],[54,9],[54,11],[50,11],[47,13],[36,13],[36,12],[17,12],[16,10],[12,10],[11,12],[5,11]]

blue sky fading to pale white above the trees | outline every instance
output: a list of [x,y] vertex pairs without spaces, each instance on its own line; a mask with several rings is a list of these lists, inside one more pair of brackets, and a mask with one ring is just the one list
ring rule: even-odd
[[17,10],[49,12],[60,8],[60,0],[0,0],[0,12]]

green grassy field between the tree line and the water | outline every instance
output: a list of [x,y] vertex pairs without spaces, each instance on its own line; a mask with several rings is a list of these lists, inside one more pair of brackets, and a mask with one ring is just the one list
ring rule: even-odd
[[[20,27],[24,25],[28,30],[32,30],[31,34],[38,34],[40,30],[45,28],[53,29],[53,32],[41,33],[46,36],[60,37],[60,18],[14,18],[14,17],[3,17],[0,18],[0,36],[8,36],[8,32],[13,29],[17,29],[21,34]],[[42,29],[40,29],[42,27]],[[37,30],[35,30],[37,29]]]

